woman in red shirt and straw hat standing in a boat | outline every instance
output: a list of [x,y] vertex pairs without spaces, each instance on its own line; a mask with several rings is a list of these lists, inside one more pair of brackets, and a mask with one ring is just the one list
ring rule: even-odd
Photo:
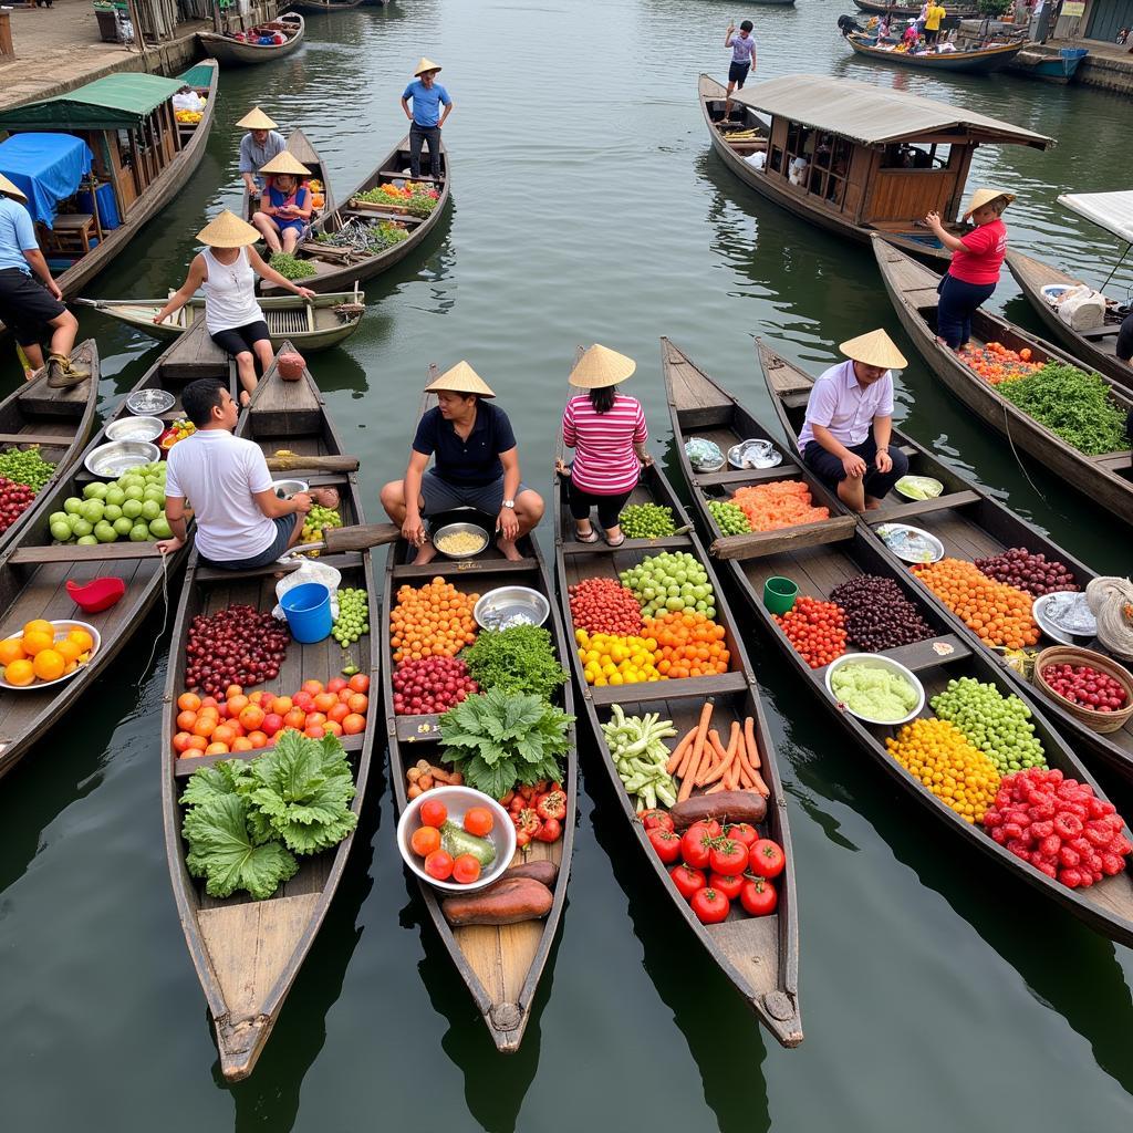
[[959,350],[972,334],[972,315],[995,291],[999,267],[1007,253],[1007,225],[999,219],[1014,201],[1002,189],[977,189],[964,213],[976,228],[963,237],[945,231],[939,213],[929,213],[925,223],[952,252],[952,264],[937,288],[936,341]]

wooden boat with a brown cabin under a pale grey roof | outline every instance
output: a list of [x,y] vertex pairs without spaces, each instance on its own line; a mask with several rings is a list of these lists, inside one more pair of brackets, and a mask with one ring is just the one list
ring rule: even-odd
[[[726,121],[723,84],[701,75],[699,97],[713,148],[746,185],[827,231],[860,242],[880,233],[942,270],[951,253],[922,219],[934,211],[959,216],[977,147],[1050,143],[962,107],[816,75],[733,92]],[[747,160],[759,153],[763,168]],[[803,160],[801,172],[792,169]]]

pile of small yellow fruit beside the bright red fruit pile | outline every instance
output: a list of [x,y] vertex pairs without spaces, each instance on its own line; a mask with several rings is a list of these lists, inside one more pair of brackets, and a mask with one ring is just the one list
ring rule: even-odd
[[983,821],[999,790],[995,765],[944,719],[914,719],[885,741],[889,755],[965,823]]

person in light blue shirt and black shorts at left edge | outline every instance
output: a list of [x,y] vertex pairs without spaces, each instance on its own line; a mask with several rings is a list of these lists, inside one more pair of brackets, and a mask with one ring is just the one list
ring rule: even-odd
[[43,339],[50,334],[48,385],[76,385],[91,376],[70,361],[78,320],[63,306],[26,205],[23,190],[0,174],[0,318],[27,357],[29,378],[43,367]]

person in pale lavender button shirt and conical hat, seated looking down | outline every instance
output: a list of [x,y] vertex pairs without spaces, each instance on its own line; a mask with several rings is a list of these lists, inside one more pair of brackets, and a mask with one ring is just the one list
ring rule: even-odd
[[889,451],[893,375],[909,363],[885,331],[870,331],[838,350],[849,361],[821,374],[799,434],[802,462],[851,510],[880,505],[909,471],[909,458]]

